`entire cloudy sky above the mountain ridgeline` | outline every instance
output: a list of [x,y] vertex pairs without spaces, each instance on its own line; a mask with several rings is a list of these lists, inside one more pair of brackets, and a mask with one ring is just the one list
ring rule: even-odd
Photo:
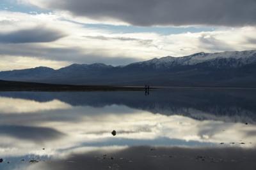
[[0,71],[256,50],[255,0],[0,0]]

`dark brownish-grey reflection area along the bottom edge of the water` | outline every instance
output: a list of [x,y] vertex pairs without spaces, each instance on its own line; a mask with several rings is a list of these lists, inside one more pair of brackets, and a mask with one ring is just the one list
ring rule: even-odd
[[101,150],[42,161],[36,170],[84,169],[256,169],[256,150],[243,148],[150,148],[136,146],[118,152]]

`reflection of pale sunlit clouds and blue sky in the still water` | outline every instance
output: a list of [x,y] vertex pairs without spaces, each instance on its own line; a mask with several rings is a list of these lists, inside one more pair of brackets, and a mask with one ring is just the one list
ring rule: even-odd
[[[256,140],[255,136],[249,135],[255,132],[255,124],[226,122],[227,118],[202,120],[181,116],[180,112],[176,110],[177,115],[172,112],[161,115],[116,104],[97,108],[70,106],[59,100],[40,103],[0,97],[0,125],[5,129],[0,131],[3,139],[0,141],[0,155],[60,157],[81,149],[86,152],[93,148],[150,145],[152,142],[156,146],[196,147],[216,146],[222,142],[229,146],[230,142],[243,140],[246,143],[243,147],[255,146],[255,143],[250,144]],[[6,127],[6,122],[12,126]],[[16,127],[20,127],[20,132],[15,130]],[[117,131],[115,138],[111,136],[113,129]],[[19,135],[28,131],[31,138]],[[179,143],[172,144],[175,140]],[[38,149],[42,147],[47,148],[47,152]]]

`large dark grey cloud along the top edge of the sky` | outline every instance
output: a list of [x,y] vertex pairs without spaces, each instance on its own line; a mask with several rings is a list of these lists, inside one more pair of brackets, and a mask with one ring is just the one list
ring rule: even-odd
[[255,0],[23,0],[94,20],[132,25],[255,25]]

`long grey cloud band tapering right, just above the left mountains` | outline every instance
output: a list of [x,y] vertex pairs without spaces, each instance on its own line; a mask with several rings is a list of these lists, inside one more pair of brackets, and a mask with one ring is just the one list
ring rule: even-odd
[[[108,56],[108,50],[104,48],[98,48],[99,52],[95,52],[97,50],[93,50],[90,48],[79,48],[77,46],[70,47],[49,47],[43,45],[33,45],[33,44],[12,44],[12,45],[0,45],[0,55],[8,55],[8,57],[33,57],[30,59],[31,61],[38,59],[52,60],[52,64],[57,65],[54,61],[62,62],[60,66],[63,66],[66,62],[67,64],[72,63],[81,63],[81,64],[92,64],[95,62],[113,64],[113,65],[122,65],[129,64],[131,62],[136,62],[139,59],[136,57],[125,57],[125,56]],[[105,54],[104,54],[105,53]],[[28,58],[27,58],[28,59]],[[9,59],[10,60],[10,59]],[[42,61],[44,61],[42,60]],[[37,63],[38,66],[41,66],[42,63]],[[9,66],[12,64],[8,64]],[[35,63],[31,63],[32,66],[35,66]],[[1,66],[1,64],[0,64]],[[0,68],[1,69],[1,68]]]

